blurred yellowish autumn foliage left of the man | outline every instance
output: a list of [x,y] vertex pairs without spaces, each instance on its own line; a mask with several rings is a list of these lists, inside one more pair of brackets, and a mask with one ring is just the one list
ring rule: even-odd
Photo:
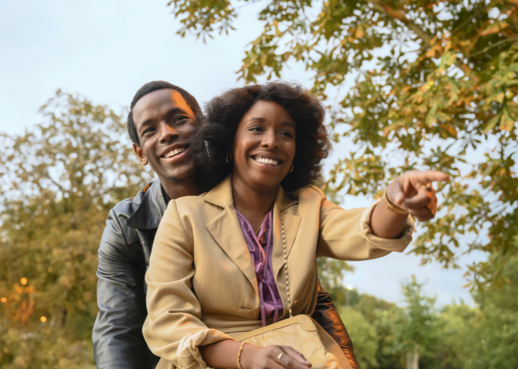
[[58,91],[45,124],[2,135],[0,367],[93,363],[97,247],[109,209],[151,179],[122,114]]

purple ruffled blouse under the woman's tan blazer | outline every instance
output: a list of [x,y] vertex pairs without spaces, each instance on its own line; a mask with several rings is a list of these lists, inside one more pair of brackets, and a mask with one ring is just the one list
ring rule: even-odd
[[259,300],[261,302],[261,321],[263,327],[265,327],[266,318],[271,318],[273,314],[275,323],[279,319],[279,311],[282,310],[281,296],[275,284],[274,272],[271,268],[271,253],[274,245],[274,210],[272,209],[266,214],[258,235],[255,235],[247,218],[237,209],[236,213],[254,264]]

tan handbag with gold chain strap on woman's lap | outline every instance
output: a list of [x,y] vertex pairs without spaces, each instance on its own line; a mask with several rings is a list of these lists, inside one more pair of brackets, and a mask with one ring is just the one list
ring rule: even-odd
[[239,342],[257,346],[287,345],[300,352],[313,365],[312,369],[352,369],[346,355],[335,340],[309,315],[292,315],[290,282],[284,235],[284,212],[281,211],[282,245],[284,247],[284,272],[290,318],[267,327],[234,337]]

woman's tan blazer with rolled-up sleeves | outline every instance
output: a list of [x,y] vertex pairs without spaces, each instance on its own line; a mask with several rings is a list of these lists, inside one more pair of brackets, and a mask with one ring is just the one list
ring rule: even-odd
[[[316,187],[301,188],[290,196],[279,189],[272,269],[283,302],[282,318],[289,313],[280,212],[284,211],[293,314],[311,315],[317,296],[317,257],[374,259],[402,252],[412,240],[411,217],[398,239],[373,235],[369,226],[373,206],[344,210]],[[151,351],[163,358],[160,367],[206,368],[198,346],[261,328],[257,279],[229,178],[206,194],[169,202],[156,233],[146,282],[148,317],[143,334]]]

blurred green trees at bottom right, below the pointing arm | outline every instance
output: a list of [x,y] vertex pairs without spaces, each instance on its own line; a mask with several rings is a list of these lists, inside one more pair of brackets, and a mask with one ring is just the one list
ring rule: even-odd
[[461,302],[438,310],[414,277],[402,286],[401,306],[359,294],[339,312],[362,369],[410,368],[414,358],[420,369],[518,367],[518,257],[502,274],[513,284],[474,293],[474,308]]

